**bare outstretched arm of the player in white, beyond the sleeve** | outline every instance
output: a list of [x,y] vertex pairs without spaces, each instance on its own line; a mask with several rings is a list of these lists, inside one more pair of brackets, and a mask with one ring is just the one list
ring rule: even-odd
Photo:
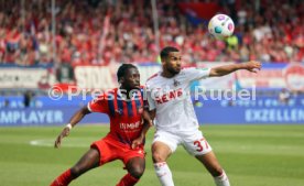
[[251,73],[258,73],[258,70],[261,69],[261,63],[256,61],[250,61],[241,64],[231,64],[231,65],[214,67],[210,69],[209,76],[210,77],[225,76],[239,69],[247,69]]

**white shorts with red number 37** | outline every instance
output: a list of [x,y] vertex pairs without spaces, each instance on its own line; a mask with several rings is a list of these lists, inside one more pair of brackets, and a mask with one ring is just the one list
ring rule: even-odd
[[182,144],[191,155],[203,155],[213,151],[199,130],[186,134],[158,130],[154,134],[153,143],[154,142],[165,143],[171,149],[172,153],[175,152],[180,144]]

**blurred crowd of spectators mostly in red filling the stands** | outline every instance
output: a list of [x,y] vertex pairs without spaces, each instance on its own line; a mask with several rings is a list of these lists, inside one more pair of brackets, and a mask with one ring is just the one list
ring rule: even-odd
[[[51,2],[0,1],[0,64],[56,62],[74,66],[159,61],[150,0],[57,0],[55,37]],[[218,3],[235,20],[235,35],[225,41],[213,39],[207,22],[192,24],[178,2]],[[302,0],[159,0],[156,7],[160,47],[181,48],[188,64],[304,62]]]

